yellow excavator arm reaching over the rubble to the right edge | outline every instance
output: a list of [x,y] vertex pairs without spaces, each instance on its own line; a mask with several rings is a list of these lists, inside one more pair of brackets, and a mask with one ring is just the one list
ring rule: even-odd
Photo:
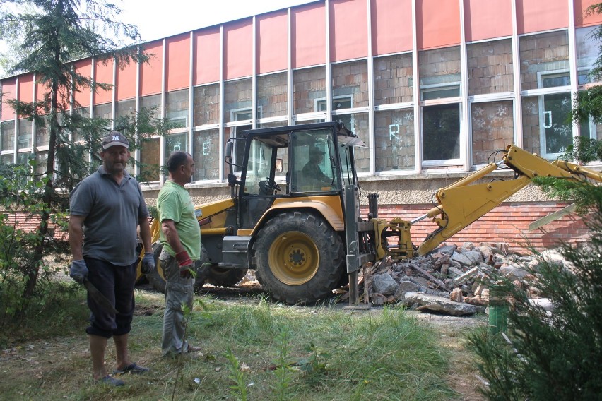
[[[514,170],[514,177],[506,180],[492,179],[486,183],[475,184],[491,172],[502,168]],[[602,181],[602,174],[594,170],[562,160],[548,162],[515,145],[508,145],[500,162],[491,163],[464,179],[439,189],[435,193],[435,206],[425,215],[410,222],[399,218],[391,222],[373,219],[377,227],[375,228],[377,258],[386,254],[397,260],[425,255],[500,205],[509,196],[520,191],[536,176],[557,177],[584,183],[590,180]],[[426,218],[432,219],[438,227],[418,248],[415,248],[410,236],[411,225]],[[390,237],[396,237],[397,241],[394,241],[396,244],[388,246],[388,241],[383,240]]]

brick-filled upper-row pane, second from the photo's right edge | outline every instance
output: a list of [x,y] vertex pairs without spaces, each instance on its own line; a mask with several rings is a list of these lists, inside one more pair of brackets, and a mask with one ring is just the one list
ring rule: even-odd
[[[545,73],[569,71],[569,44],[566,30],[519,37],[521,58],[521,90],[543,88]],[[569,85],[567,80],[550,81],[549,85]]]

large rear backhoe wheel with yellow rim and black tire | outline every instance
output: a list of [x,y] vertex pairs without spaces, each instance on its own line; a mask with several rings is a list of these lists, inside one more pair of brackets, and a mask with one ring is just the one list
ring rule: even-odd
[[257,234],[253,252],[257,280],[287,304],[331,295],[345,265],[341,237],[323,218],[307,212],[273,217]]

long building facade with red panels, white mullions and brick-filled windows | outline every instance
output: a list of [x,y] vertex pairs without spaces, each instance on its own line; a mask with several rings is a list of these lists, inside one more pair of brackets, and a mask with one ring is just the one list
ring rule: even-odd
[[[601,138],[602,127],[567,120],[572,97],[592,84],[590,34],[602,16],[584,10],[596,2],[314,1],[145,43],[149,64],[76,61],[80,73],[114,87],[75,100],[108,119],[156,106],[179,124],[143,140],[135,157],[163,165],[173,150],[190,152],[199,202],[229,195],[224,143],[240,131],[341,120],[369,145],[356,153],[365,193],[408,217],[509,143],[553,160],[575,136]],[[33,74],[4,78],[1,88],[3,100],[42,96]],[[0,162],[44,160],[44,130],[8,107],[0,117]],[[164,179],[146,187],[149,203]],[[526,188],[500,210],[533,217],[562,206]],[[521,239],[519,220],[490,213],[484,232],[466,229],[457,241]],[[545,245],[583,232],[566,217],[529,238]]]

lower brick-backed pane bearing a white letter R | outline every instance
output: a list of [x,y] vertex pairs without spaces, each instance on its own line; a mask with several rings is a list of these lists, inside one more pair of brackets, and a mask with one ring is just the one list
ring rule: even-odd
[[374,113],[374,137],[377,172],[415,169],[412,109]]

